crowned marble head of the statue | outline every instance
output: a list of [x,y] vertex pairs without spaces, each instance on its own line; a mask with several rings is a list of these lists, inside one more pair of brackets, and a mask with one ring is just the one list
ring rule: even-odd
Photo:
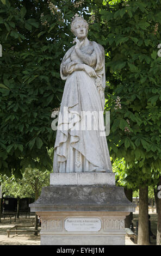
[[84,39],[88,34],[88,23],[82,17],[75,15],[71,22],[71,32],[78,37]]

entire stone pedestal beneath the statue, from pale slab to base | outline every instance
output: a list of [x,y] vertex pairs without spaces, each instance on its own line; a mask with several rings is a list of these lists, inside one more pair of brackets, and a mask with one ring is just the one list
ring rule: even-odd
[[125,245],[125,217],[135,210],[114,173],[51,174],[30,210],[41,216],[41,245]]

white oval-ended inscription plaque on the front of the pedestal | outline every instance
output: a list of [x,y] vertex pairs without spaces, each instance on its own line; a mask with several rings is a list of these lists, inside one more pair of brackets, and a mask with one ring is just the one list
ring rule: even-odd
[[99,218],[66,218],[64,227],[66,231],[99,231],[101,220]]

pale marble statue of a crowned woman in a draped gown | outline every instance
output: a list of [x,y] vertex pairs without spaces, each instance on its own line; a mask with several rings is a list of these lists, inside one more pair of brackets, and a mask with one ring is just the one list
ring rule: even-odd
[[[82,126],[78,126],[84,119],[82,113],[103,115],[104,48],[88,40],[88,23],[82,17],[72,20],[71,31],[76,36],[73,41],[76,45],[66,52],[60,66],[61,78],[66,82],[54,146],[53,172],[112,172],[106,136],[100,136],[99,127],[81,129]],[[74,118],[67,118],[66,113]],[[76,126],[80,129],[74,129]]]

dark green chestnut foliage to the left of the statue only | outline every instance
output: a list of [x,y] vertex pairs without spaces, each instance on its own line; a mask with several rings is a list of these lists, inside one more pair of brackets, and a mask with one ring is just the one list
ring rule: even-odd
[[59,69],[71,47],[71,1],[0,1],[0,172],[51,169],[51,114],[64,83]]

